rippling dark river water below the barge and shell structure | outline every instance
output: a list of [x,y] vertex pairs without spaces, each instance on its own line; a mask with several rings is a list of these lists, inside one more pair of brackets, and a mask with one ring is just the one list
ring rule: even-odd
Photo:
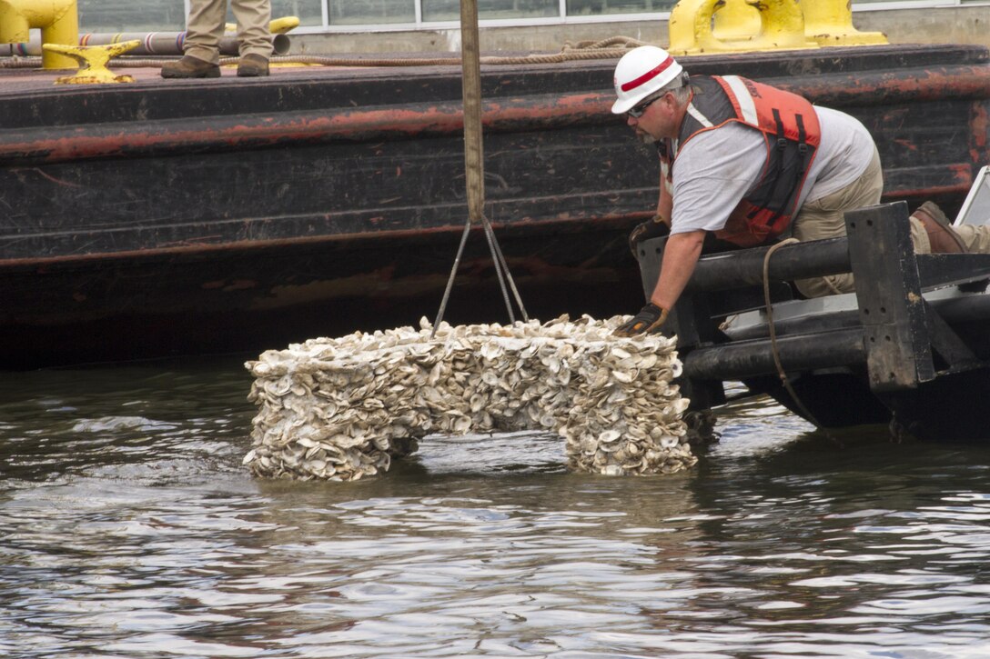
[[243,361],[4,375],[0,656],[990,657],[988,448],[761,400],[668,477],[515,433],[260,481]]

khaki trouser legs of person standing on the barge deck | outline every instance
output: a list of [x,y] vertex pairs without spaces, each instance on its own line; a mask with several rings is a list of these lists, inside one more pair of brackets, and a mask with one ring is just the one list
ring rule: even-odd
[[[238,43],[241,56],[271,56],[270,0],[231,0],[234,16],[238,20]],[[183,47],[191,57],[220,62],[220,40],[224,36],[227,19],[227,0],[192,0],[186,22],[186,40]]]

